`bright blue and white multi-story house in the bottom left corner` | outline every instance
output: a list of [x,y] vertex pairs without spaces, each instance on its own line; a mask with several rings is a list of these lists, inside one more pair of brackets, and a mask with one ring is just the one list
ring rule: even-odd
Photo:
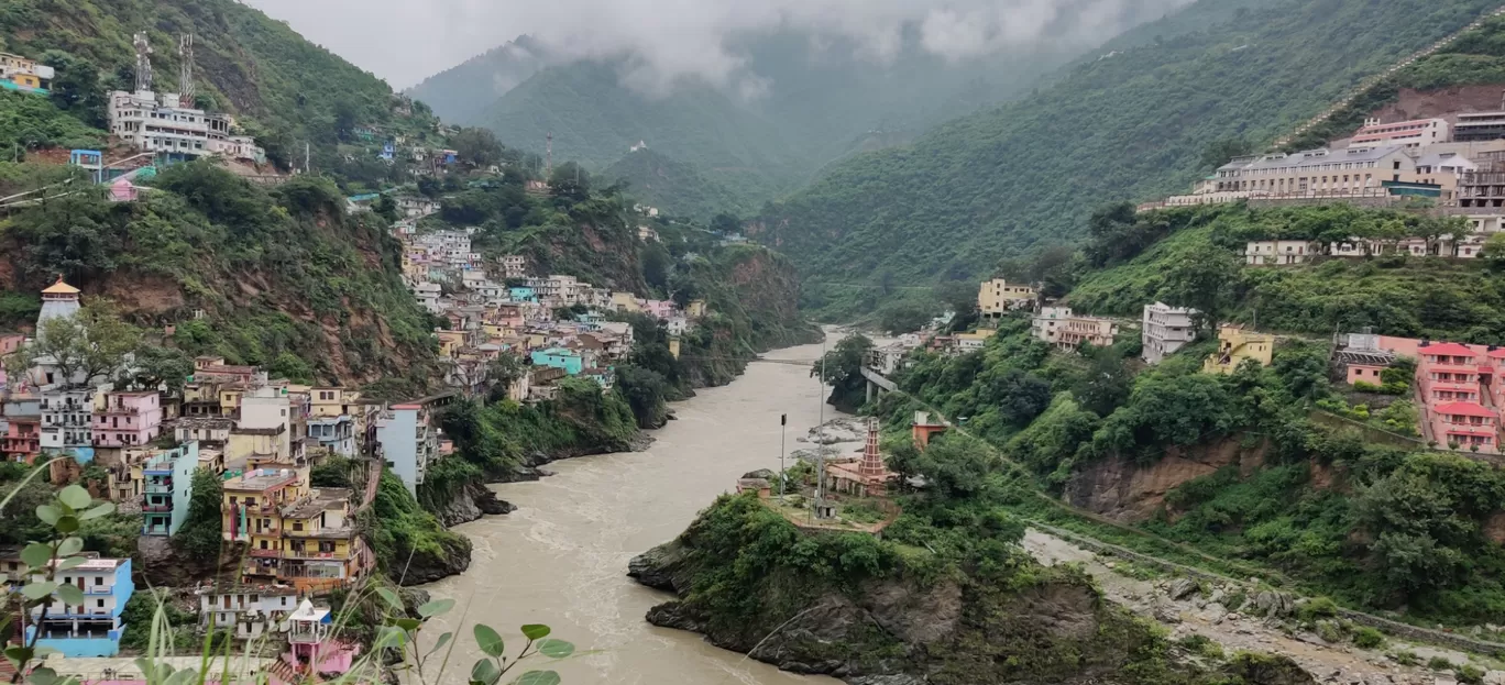
[[[36,574],[32,580],[42,580],[42,575]],[[53,604],[47,608],[47,619],[42,619],[41,625],[36,622],[42,616],[42,607],[33,610],[30,625],[26,626],[26,640],[30,641],[36,631],[41,631],[36,646],[56,649],[63,656],[119,655],[120,634],[125,632],[120,613],[135,592],[135,584],[131,583],[131,560],[90,559],[68,571],[59,571],[57,581],[83,590],[84,604],[65,607],[57,595],[53,595]]]

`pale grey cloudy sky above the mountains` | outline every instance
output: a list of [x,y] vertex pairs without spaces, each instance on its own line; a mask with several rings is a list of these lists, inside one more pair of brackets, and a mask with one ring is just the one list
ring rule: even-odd
[[1129,17],[1190,0],[244,0],[342,57],[412,86],[519,35],[564,59],[632,54],[632,78],[664,87],[683,77],[756,80],[728,38],[786,27],[855,41],[891,57],[905,27],[962,60],[1008,45],[1112,38]]

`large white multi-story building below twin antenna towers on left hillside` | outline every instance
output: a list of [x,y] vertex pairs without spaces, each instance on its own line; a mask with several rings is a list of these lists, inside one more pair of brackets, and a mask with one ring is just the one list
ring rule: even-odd
[[110,93],[110,132],[134,149],[181,158],[223,155],[266,161],[266,151],[247,135],[232,135],[229,114],[182,107],[178,93],[152,90]]

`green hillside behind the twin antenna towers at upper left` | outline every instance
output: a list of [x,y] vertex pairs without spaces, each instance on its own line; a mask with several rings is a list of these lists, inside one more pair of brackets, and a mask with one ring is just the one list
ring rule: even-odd
[[[387,125],[421,140],[436,119],[424,108],[393,111],[385,81],[303,39],[281,21],[232,0],[15,0],[0,11],[0,50],[44,59],[57,68],[57,111],[104,128],[107,89],[134,87],[134,32],[146,30],[160,92],[178,90],[178,35],[194,35],[202,105],[236,114],[239,125],[280,166],[313,146],[316,169],[330,169],[336,143],[355,125]],[[18,111],[17,107],[27,107]],[[57,111],[35,111],[0,99],[0,145],[72,145],[77,131],[48,134]],[[6,125],[26,117],[30,125]]]

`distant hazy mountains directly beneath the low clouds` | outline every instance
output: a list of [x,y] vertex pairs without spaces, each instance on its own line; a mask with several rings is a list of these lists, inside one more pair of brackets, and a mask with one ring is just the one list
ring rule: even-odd
[[[1260,2],[1269,0],[1221,0]],[[1133,0],[1097,20],[1138,26],[1166,5]],[[1184,29],[1168,26],[1162,33]],[[445,120],[492,128],[528,151],[542,152],[552,132],[555,160],[593,169],[613,164],[641,140],[760,203],[847,155],[905,143],[947,119],[1013,99],[1090,45],[1064,26],[1046,29],[1034,42],[956,60],[926,50],[917,26],[905,29],[889,59],[798,27],[733,42],[730,50],[756,75],[754,93],[683,78],[667,95],[644,95],[623,86],[616,66],[549,54],[527,36],[408,93]],[[631,56],[617,62],[629,63]]]

